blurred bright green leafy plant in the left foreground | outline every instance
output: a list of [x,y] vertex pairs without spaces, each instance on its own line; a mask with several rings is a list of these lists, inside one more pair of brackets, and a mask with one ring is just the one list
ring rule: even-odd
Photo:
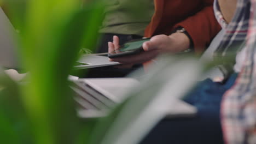
[[[80,48],[93,47],[103,4],[79,0],[7,0],[20,30],[18,50],[30,76],[18,86],[0,78],[1,143],[85,143],[67,76]],[[10,84],[12,83],[12,84]],[[81,137],[81,138],[80,138]]]

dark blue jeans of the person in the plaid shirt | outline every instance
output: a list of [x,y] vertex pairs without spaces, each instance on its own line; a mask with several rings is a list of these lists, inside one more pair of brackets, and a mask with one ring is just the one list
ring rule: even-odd
[[206,79],[200,82],[184,101],[197,107],[191,118],[163,119],[141,143],[223,143],[220,125],[220,101],[234,84],[237,74],[225,83]]

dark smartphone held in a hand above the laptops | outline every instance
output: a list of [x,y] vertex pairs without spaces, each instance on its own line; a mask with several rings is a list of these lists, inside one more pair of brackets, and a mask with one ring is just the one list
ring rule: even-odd
[[119,47],[118,53],[113,53],[113,54],[108,53],[108,57],[109,58],[124,57],[124,56],[135,55],[139,52],[143,52],[144,50],[142,48],[142,45],[144,42],[149,40],[150,38],[128,41],[127,43]]

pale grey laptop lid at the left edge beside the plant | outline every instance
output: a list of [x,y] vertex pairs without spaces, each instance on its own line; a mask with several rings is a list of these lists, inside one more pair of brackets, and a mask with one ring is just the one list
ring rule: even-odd
[[18,68],[14,35],[14,27],[0,7],[0,66],[4,68]]

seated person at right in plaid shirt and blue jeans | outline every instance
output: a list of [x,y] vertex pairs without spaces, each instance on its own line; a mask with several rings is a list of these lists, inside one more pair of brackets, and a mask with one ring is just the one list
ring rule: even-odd
[[[214,57],[223,60],[220,66],[226,79],[222,82],[210,79],[200,82],[185,97],[187,103],[197,107],[197,116],[164,119],[141,143],[255,143],[253,29],[256,9],[251,7],[251,3],[254,5],[255,2],[216,0],[214,11],[225,35]],[[247,35],[250,12],[251,27]],[[246,37],[248,41],[245,46],[243,42]],[[234,65],[225,58],[236,52]],[[234,66],[232,69],[231,65]]]

